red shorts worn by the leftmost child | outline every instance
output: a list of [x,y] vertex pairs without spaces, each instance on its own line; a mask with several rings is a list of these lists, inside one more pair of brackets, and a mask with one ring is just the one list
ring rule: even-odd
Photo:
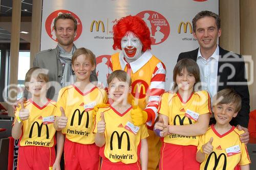
[[26,146],[18,148],[18,170],[49,169],[55,161],[54,147]]

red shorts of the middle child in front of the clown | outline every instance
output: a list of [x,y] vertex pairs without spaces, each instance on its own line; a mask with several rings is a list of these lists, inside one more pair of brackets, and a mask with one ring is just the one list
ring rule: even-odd
[[100,169],[102,170],[141,170],[139,162],[124,164],[122,162],[113,163],[108,159],[103,159]]

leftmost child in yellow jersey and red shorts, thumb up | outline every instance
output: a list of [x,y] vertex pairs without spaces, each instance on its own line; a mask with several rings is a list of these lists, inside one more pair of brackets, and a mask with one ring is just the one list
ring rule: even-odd
[[19,138],[18,169],[50,169],[55,161],[53,122],[56,103],[46,98],[49,77],[44,69],[30,68],[25,88],[32,98],[15,111],[12,137]]

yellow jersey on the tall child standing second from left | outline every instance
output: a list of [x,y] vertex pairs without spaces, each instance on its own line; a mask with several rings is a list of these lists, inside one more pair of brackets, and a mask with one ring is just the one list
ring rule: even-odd
[[95,105],[106,103],[107,99],[105,90],[97,87],[86,93],[82,93],[75,85],[62,88],[58,96],[57,115],[61,115],[59,108],[63,107],[68,123],[62,133],[66,134],[67,139],[81,144],[94,143],[92,110]]

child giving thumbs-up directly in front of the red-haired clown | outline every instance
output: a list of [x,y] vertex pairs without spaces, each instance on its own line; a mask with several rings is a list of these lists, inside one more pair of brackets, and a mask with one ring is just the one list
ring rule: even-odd
[[95,143],[100,147],[101,169],[147,169],[147,128],[132,123],[131,112],[140,110],[127,103],[131,78],[123,70],[108,77],[109,94],[114,103],[96,113]]

